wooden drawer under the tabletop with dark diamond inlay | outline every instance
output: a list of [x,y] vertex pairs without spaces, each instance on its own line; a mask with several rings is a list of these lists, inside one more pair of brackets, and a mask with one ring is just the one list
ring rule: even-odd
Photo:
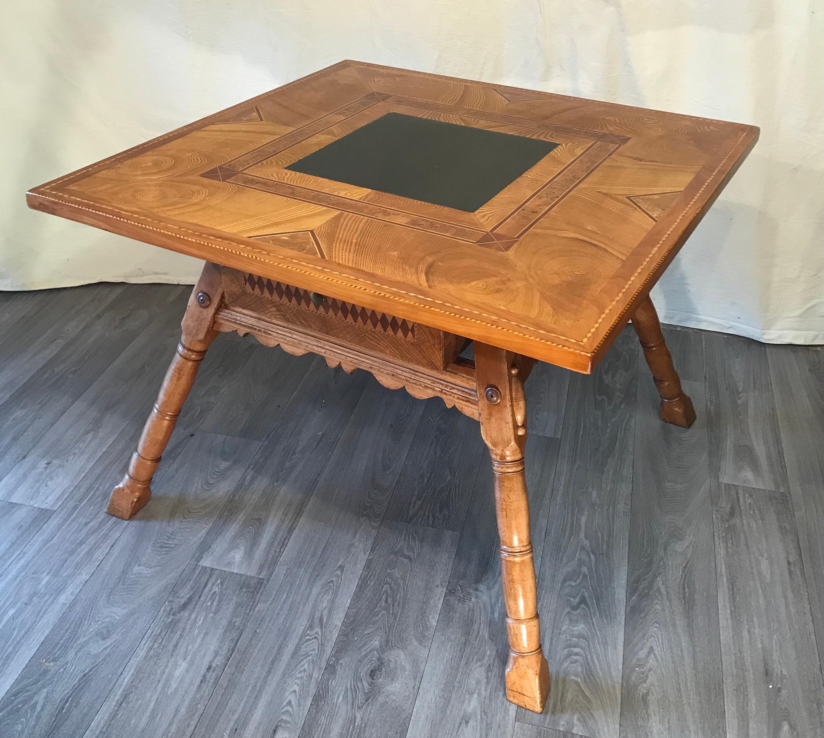
[[466,339],[428,325],[222,267],[227,306],[366,353],[445,369]]

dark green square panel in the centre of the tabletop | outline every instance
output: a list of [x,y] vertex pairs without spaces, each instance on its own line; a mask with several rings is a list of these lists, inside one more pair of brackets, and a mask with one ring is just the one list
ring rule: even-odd
[[472,213],[557,146],[387,113],[286,169]]

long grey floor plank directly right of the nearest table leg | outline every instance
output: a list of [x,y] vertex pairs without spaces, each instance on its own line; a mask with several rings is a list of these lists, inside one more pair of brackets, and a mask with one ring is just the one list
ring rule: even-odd
[[618,736],[639,344],[629,329],[569,382],[538,583],[550,702],[517,719]]

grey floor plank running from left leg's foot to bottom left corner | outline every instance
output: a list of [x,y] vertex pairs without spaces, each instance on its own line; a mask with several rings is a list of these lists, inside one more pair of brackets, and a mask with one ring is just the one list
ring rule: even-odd
[[255,451],[245,439],[190,439],[180,455],[189,463],[158,475],[153,506],[138,513],[145,525],[119,535],[3,695],[0,735],[83,735]]

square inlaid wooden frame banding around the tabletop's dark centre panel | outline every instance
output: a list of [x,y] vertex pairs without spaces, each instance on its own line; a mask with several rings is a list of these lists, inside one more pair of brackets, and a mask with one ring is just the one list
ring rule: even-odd
[[[550,179],[529,192],[520,203],[514,208],[510,208],[508,213],[505,213],[489,228],[484,227],[480,222],[478,222],[477,227],[468,225],[466,219],[467,217],[471,218],[471,213],[456,211],[452,208],[438,206],[438,217],[431,217],[420,212],[410,212],[410,210],[398,207],[369,203],[362,199],[323,192],[293,182],[273,180],[255,175],[249,171],[251,167],[259,165],[273,156],[288,152],[290,148],[297,146],[297,144],[307,142],[313,136],[323,133],[344,121],[357,120],[358,116],[362,116],[376,107],[389,106],[386,112],[396,110],[394,107],[396,105],[400,106],[404,112],[418,113],[420,117],[427,117],[427,113],[431,114],[433,112],[449,114],[453,118],[460,119],[461,124],[471,127],[475,127],[475,121],[509,124],[522,129],[531,128],[540,134],[540,138],[545,138],[546,134],[555,133],[558,137],[583,138],[591,141],[591,143],[572,161],[567,162],[555,172],[555,175],[552,175]],[[363,122],[357,120],[360,125],[356,128],[360,128],[361,125],[367,124],[372,119],[374,117],[365,118]],[[604,161],[609,159],[629,140],[630,137],[627,136],[602,133],[588,128],[552,124],[486,110],[475,110],[428,100],[415,100],[405,96],[388,95],[382,92],[369,92],[367,95],[358,98],[358,100],[353,100],[353,102],[343,105],[337,110],[321,115],[299,128],[284,133],[283,136],[273,138],[271,141],[250,149],[250,151],[244,152],[220,166],[204,171],[201,176],[320,205],[324,208],[338,210],[341,213],[353,213],[358,216],[414,228],[436,236],[447,236],[456,239],[456,241],[464,241],[505,252],[512,248],[546,213],[555,208],[561,200],[573,192],[578,184],[586,180],[593,171],[597,170]],[[515,182],[520,179],[518,178]],[[505,189],[501,192],[504,191]],[[494,203],[494,199],[486,205],[492,203]],[[424,203],[424,205],[426,204],[429,203]],[[449,217],[450,213],[454,213],[454,219]]]

